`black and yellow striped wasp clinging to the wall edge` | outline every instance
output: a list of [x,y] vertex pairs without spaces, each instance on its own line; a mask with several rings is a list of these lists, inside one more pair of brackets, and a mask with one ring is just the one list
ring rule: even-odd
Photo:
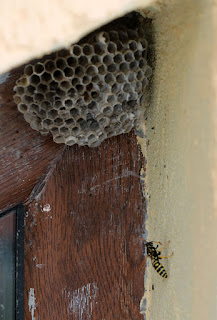
[[[139,239],[144,241],[144,239],[142,239],[142,238],[139,238]],[[155,247],[153,243],[157,243],[157,246]],[[170,244],[170,241],[168,241],[168,243],[164,247],[162,247],[160,250],[158,250],[158,244],[162,245],[161,242],[157,242],[157,241],[146,242],[145,246],[147,248],[147,255],[151,258],[152,266],[157,271],[157,273],[161,277],[167,278],[167,272],[166,272],[164,266],[160,263],[160,259],[165,259],[165,258],[169,258],[169,257],[173,256],[173,253],[171,255],[167,256],[167,257],[161,256],[161,251]],[[139,268],[140,270],[143,267],[145,262],[146,262],[146,258],[142,262],[142,264],[141,264],[141,266]]]

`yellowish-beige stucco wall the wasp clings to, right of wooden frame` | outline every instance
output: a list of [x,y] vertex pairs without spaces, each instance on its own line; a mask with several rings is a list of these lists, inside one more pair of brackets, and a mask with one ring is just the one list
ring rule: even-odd
[[174,256],[162,260],[166,280],[149,263],[141,309],[151,320],[217,319],[216,11],[175,0],[154,16],[147,230]]

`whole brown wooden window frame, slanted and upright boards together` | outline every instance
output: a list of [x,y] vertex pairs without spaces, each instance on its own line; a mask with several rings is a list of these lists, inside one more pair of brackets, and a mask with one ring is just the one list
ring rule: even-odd
[[25,320],[143,319],[136,137],[89,149],[41,136],[13,102],[23,68],[0,85],[0,212],[26,204]]

